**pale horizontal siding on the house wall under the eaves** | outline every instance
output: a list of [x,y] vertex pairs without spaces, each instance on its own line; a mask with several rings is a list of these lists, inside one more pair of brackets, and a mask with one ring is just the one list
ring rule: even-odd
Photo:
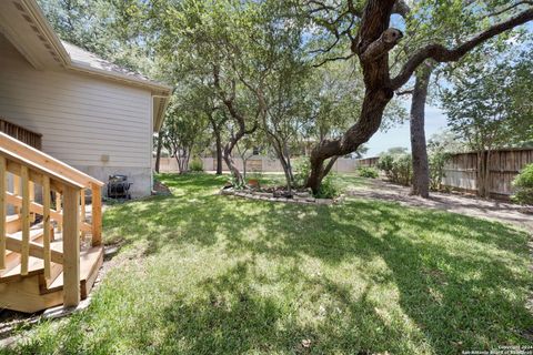
[[135,196],[151,187],[151,101],[148,90],[36,70],[0,36],[0,116],[41,133],[44,152],[97,179],[129,175]]

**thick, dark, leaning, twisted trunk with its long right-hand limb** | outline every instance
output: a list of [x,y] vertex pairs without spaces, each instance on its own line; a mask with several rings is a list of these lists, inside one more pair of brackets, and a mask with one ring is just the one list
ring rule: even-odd
[[[325,176],[324,161],[329,158],[345,155],[358,150],[380,128],[383,111],[416,68],[428,59],[438,62],[459,61],[464,54],[491,38],[533,19],[533,9],[527,9],[506,21],[495,23],[470,40],[452,49],[440,44],[429,44],[413,51],[399,74],[391,79],[389,51],[392,50],[402,32],[389,28],[393,10],[406,11],[396,0],[366,0],[360,16],[356,36],[351,37],[351,54],[360,59],[364,79],[364,99],[359,120],[340,139],[321,141],[311,153],[311,173],[308,186],[318,192]],[[349,7],[350,8],[350,7]],[[353,8],[353,7],[352,7]],[[350,12],[350,11],[349,11]],[[359,16],[358,16],[359,17]]]

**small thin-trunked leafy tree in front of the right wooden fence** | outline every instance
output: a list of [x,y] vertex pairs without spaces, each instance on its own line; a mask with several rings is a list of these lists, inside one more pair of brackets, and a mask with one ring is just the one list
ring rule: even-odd
[[[531,138],[533,121],[516,104],[516,87],[522,83],[513,63],[491,67],[471,64],[452,89],[444,91],[442,104],[449,125],[457,138],[467,142],[477,154],[477,194],[489,196],[489,174],[494,149],[510,146]],[[521,67],[520,67],[521,68]],[[531,68],[531,67],[530,67]],[[523,100],[520,100],[523,102]]]

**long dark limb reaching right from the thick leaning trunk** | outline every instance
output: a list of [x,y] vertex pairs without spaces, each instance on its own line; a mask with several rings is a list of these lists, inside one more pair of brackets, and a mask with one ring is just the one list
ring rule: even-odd
[[453,48],[447,49],[441,44],[429,44],[415,52],[403,65],[401,72],[391,80],[391,89],[398,90],[405,84],[411,78],[416,68],[422,64],[426,59],[433,59],[440,63],[453,62],[460,60],[464,54],[476,45],[485,42],[486,40],[513,29],[520,24],[524,24],[533,19],[533,8],[522,11],[521,13],[512,17],[511,19],[496,23],[485,31],[474,36],[466,42]]

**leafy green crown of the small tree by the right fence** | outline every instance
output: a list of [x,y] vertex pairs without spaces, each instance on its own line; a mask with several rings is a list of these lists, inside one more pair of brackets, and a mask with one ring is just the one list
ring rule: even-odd
[[531,140],[533,111],[524,89],[533,83],[532,68],[531,58],[525,58],[517,63],[470,63],[456,71],[453,88],[442,97],[452,131],[474,150]]

